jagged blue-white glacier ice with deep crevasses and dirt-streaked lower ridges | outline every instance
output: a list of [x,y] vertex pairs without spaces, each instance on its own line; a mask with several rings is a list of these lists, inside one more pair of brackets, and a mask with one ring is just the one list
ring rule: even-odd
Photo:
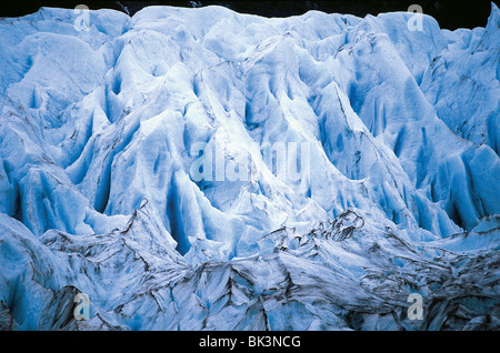
[[[496,4],[80,16],[0,19],[0,329],[500,329]],[[291,142],[299,180],[256,148]]]

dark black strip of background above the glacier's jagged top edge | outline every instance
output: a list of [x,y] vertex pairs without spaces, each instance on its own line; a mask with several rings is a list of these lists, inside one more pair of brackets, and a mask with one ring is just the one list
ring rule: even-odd
[[[0,17],[29,14],[38,11],[42,6],[73,9],[80,3],[87,4],[92,10],[108,8],[123,11],[123,7],[126,7],[130,16],[149,4],[177,7],[219,4],[238,12],[254,13],[264,17],[288,17],[302,14],[308,10],[319,10],[328,13],[351,13],[364,17],[367,13],[377,16],[380,12],[407,11],[410,4],[416,3],[422,7],[423,13],[436,18],[441,28],[450,30],[484,27],[491,10],[491,2],[489,0],[14,0],[9,2],[0,6]],[[498,4],[498,2],[496,3]]]

